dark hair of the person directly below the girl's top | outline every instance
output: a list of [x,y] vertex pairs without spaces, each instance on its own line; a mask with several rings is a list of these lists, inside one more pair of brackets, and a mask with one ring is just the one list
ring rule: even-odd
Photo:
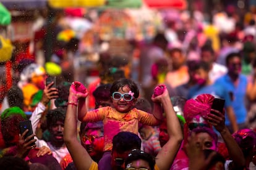
[[132,132],[119,132],[113,137],[113,151],[124,153],[132,149],[140,149],[142,140]]

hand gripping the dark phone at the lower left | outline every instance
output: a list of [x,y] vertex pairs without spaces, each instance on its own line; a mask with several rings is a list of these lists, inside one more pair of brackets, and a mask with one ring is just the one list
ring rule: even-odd
[[35,134],[32,134],[28,136],[26,139],[24,139],[25,134],[27,134],[27,132],[28,129],[20,135],[19,143],[17,144],[17,156],[20,158],[25,158],[25,156],[28,155],[28,152],[30,152],[32,148],[36,147],[36,139],[32,139],[35,136]]

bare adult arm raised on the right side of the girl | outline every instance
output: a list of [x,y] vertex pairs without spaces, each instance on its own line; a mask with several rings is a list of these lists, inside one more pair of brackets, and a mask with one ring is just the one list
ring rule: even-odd
[[161,148],[158,155],[156,155],[156,165],[159,169],[169,169],[171,164],[173,164],[183,139],[181,124],[179,124],[179,120],[173,110],[173,105],[167,89],[164,90],[162,95],[155,98],[160,99],[163,105],[164,113],[166,113],[167,131],[169,135],[168,142]]

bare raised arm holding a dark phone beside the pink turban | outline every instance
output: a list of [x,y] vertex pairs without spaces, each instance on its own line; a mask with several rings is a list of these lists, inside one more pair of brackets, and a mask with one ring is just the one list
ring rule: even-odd
[[224,114],[217,110],[214,111],[215,114],[208,114],[208,123],[212,124],[215,129],[220,132],[221,137],[223,138],[226,147],[228,148],[228,153],[231,159],[233,160],[233,166],[236,168],[245,167],[245,158],[242,153],[241,148],[237,144],[236,140],[231,136],[228,128],[225,126],[225,117]]

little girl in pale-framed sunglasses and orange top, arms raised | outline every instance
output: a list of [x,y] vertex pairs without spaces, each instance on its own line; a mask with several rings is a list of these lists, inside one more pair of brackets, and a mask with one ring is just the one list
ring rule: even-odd
[[[163,118],[161,93],[163,91],[167,91],[166,87],[163,89],[161,87],[156,88],[155,94],[151,97],[151,100],[154,102],[153,115],[134,108],[134,104],[139,97],[139,89],[130,79],[119,79],[111,86],[110,94],[113,107],[103,107],[87,111],[85,99],[88,91],[79,82],[72,83],[69,95],[70,102],[68,104],[77,106],[77,102],[79,102],[78,118],[82,122],[103,121],[105,136],[104,151],[109,151],[108,154],[110,155],[112,139],[118,132],[129,131],[138,134],[139,123],[150,126],[156,126],[161,123]],[[156,95],[160,96],[155,98]]]

